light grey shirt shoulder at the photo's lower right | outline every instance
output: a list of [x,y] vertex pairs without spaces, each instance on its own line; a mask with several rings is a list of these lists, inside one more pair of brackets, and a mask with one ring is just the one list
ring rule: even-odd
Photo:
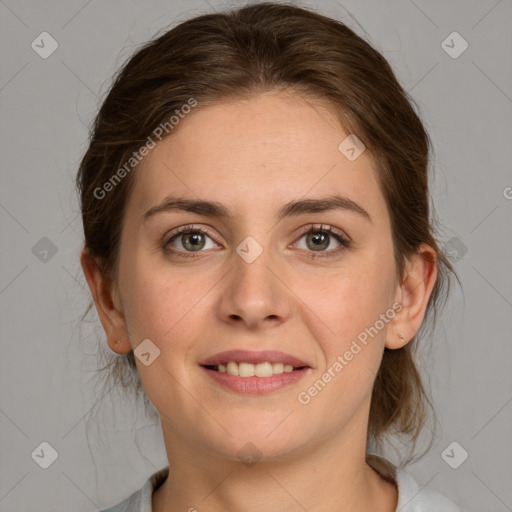
[[462,512],[444,494],[421,487],[404,469],[396,469],[396,482],[400,512]]

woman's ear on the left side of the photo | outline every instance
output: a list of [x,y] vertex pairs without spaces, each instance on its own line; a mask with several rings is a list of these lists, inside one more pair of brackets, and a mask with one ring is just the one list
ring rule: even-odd
[[108,346],[118,354],[126,354],[131,350],[131,345],[115,283],[110,277],[102,274],[89,249],[82,250],[80,263],[107,336]]

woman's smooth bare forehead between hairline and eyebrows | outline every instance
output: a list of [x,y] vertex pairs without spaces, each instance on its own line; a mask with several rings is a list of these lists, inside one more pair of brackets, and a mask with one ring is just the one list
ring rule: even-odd
[[378,216],[385,203],[372,158],[350,161],[339,149],[347,135],[329,104],[296,94],[199,104],[139,164],[131,208],[142,214],[173,194],[242,214],[340,193]]

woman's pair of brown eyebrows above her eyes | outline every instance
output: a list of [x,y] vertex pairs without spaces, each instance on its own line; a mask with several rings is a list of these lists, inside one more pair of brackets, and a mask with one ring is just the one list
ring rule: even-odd
[[[160,204],[153,206],[142,215],[142,221],[154,217],[158,213],[170,211],[185,211],[204,215],[206,217],[219,217],[229,219],[233,213],[222,203],[201,199],[189,199],[184,197],[166,197]],[[354,213],[370,223],[372,219],[369,213],[351,199],[339,195],[330,195],[316,199],[300,199],[286,203],[276,214],[276,222],[285,217],[296,217],[306,213],[318,213],[334,210],[343,210]]]

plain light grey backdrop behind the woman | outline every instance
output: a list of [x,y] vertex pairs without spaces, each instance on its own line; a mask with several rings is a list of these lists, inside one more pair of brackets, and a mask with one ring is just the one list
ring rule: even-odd
[[[78,325],[88,292],[73,179],[114,71],[158,30],[225,5],[0,0],[2,512],[97,510],[167,465],[143,410],[94,385],[101,331]],[[435,147],[439,236],[464,293],[454,287],[426,352],[440,429],[409,471],[467,511],[512,510],[512,2],[302,5],[364,27]],[[31,48],[43,31],[59,44],[47,59]],[[453,31],[469,44],[456,59],[441,47]],[[58,453],[48,469],[31,457],[43,441]],[[441,457],[454,441],[469,454],[457,469]]]

